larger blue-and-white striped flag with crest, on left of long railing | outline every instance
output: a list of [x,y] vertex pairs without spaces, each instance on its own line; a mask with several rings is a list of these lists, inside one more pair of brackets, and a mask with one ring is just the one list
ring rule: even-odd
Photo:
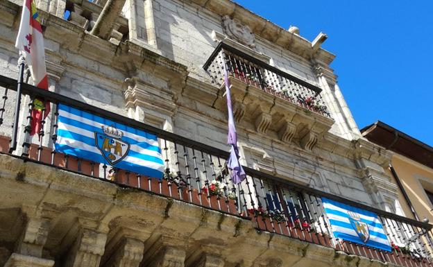
[[162,178],[158,139],[148,132],[60,104],[57,135],[58,152]]

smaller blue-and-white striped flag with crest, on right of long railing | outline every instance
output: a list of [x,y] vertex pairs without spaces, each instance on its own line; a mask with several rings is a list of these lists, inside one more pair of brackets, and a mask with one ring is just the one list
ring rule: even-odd
[[332,232],[337,239],[391,251],[382,223],[374,212],[322,198]]

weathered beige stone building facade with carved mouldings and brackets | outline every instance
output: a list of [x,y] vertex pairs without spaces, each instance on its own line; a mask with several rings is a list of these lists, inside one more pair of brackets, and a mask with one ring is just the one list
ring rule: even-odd
[[[309,42],[297,28],[280,28],[228,0],[36,3],[51,92],[86,103],[90,110],[98,107],[228,151],[218,65],[221,55],[228,56],[221,62],[232,62],[230,82],[244,166],[278,181],[395,212],[397,187],[386,171],[391,153],[359,132],[330,68],[334,55],[321,48],[325,34]],[[21,5],[0,1],[0,69],[14,79]],[[65,12],[70,14],[67,19]],[[244,67],[233,67],[238,63]],[[246,73],[245,68],[266,73]],[[283,86],[287,83],[290,92]],[[296,99],[298,93],[290,95],[294,91],[303,94],[304,102]],[[325,112],[307,103],[310,96]],[[0,128],[6,139],[15,92],[8,92],[8,99]],[[26,96],[22,110],[29,101]],[[20,116],[24,128],[27,114]],[[51,112],[46,136],[54,134],[55,125]],[[21,142],[25,138],[19,135]],[[41,142],[46,148],[53,145],[51,138]],[[39,144],[37,137],[33,143]],[[188,165],[187,160],[176,160],[175,144],[165,148],[171,169]],[[0,265],[405,265],[299,241],[275,234],[275,229],[257,232],[244,218],[248,214],[232,216],[121,187],[102,174],[97,180],[28,162],[22,149],[15,156],[2,149],[0,155]],[[99,173],[105,173],[99,167]],[[250,188],[247,184],[241,189]],[[250,195],[262,196],[257,191]],[[244,205],[254,209],[257,203]]]

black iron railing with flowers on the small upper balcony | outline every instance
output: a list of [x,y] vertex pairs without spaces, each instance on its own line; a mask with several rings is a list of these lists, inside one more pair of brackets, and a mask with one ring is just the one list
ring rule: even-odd
[[217,46],[203,66],[210,74],[212,83],[218,87],[223,85],[223,64],[226,64],[228,75],[232,78],[330,117],[321,97],[320,87],[287,74],[223,42]]

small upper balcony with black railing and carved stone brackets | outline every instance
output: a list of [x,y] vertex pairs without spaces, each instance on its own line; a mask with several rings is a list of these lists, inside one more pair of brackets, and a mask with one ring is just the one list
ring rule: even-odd
[[[221,42],[203,68],[219,87],[220,100],[226,64],[235,119],[283,142],[295,141],[312,150],[334,120],[321,96],[321,88],[291,76],[257,58]],[[214,106],[223,110],[224,101]]]

